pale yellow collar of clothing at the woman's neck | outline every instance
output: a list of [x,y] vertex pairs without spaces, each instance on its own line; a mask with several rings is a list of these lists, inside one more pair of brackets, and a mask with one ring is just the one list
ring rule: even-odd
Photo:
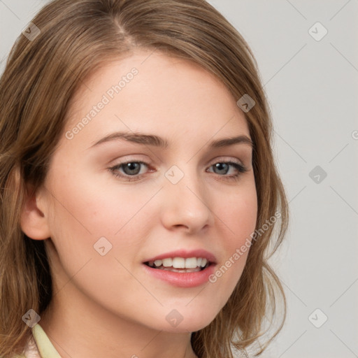
[[32,336],[21,355],[13,358],[61,358],[40,324],[31,328]]

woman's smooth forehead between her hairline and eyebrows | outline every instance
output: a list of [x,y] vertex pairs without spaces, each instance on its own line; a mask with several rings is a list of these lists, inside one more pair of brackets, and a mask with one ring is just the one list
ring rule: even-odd
[[[141,131],[166,138],[249,135],[236,99],[194,62],[136,51],[103,64],[73,96],[66,131],[94,143],[110,131]],[[77,128],[77,130],[76,130]]]

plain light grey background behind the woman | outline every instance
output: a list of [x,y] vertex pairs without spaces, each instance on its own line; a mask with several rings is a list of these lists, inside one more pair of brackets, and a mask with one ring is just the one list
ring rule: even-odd
[[[47,2],[0,0],[0,72]],[[209,2],[255,53],[289,199],[289,231],[271,259],[287,321],[262,357],[358,357],[358,1]],[[328,31],[320,41],[316,22]]]

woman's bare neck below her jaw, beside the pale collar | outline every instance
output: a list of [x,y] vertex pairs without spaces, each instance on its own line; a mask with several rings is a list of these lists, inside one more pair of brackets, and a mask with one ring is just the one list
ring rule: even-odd
[[156,331],[131,322],[88,299],[73,299],[73,289],[70,282],[60,290],[39,322],[62,358],[197,358],[190,332]]

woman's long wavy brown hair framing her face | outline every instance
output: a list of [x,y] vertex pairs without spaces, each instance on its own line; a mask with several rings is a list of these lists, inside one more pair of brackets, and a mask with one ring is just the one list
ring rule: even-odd
[[257,229],[278,212],[280,221],[252,241],[233,294],[213,322],[192,334],[192,347],[199,357],[232,358],[233,346],[245,350],[266,333],[266,311],[271,307],[274,317],[281,297],[282,322],[270,342],[285,321],[286,303],[267,254],[273,229],[271,255],[285,236],[288,205],[273,159],[271,113],[248,44],[203,0],[55,0],[32,22],[41,32],[17,38],[0,79],[0,357],[21,352],[31,334],[22,315],[31,308],[41,315],[52,299],[44,241],[29,239],[20,227],[27,185],[43,184],[83,80],[134,47],[192,60],[235,99],[255,100],[245,118],[254,143]]

